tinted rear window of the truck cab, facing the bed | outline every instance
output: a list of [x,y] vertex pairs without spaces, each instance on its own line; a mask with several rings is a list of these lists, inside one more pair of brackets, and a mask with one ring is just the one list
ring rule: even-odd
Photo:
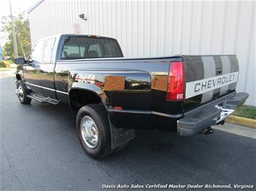
[[104,37],[66,37],[61,60],[123,57],[118,42]]

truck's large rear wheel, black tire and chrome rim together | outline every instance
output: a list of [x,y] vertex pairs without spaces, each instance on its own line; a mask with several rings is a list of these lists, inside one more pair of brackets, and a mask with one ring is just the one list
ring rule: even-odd
[[84,151],[94,159],[111,153],[111,134],[107,112],[102,103],[89,104],[79,109],[76,129]]

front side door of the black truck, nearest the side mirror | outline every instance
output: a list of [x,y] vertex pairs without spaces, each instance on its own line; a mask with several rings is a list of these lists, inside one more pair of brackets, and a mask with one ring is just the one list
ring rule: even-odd
[[40,64],[43,58],[43,46],[45,40],[40,40],[35,44],[30,53],[30,63],[24,65],[23,75],[27,88],[30,88],[34,93],[43,95],[40,84]]

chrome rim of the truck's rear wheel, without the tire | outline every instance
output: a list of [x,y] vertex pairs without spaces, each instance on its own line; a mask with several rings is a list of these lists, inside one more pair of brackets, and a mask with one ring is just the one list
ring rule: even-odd
[[92,118],[84,116],[80,124],[81,136],[89,148],[94,149],[99,143],[99,133]]

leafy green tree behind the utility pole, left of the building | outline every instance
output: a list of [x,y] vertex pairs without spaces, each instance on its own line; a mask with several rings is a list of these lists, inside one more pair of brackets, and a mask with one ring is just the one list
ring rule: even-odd
[[[30,24],[25,13],[14,17],[14,26],[17,38],[17,50],[19,57],[27,57],[30,54]],[[13,38],[12,38],[12,22],[10,17],[1,17],[1,32],[6,34],[7,42],[4,45],[4,56],[10,56],[14,60]]]

